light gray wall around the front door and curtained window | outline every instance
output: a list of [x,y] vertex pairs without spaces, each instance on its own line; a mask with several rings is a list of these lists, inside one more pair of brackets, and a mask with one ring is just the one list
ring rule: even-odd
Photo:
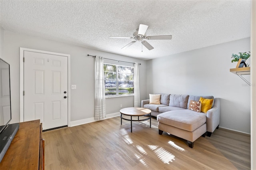
[[[117,59],[128,62],[141,63],[140,71],[140,95],[146,98],[146,61],[107,53],[103,51],[79,47],[66,43],[54,42],[42,38],[25,36],[4,30],[4,55],[3,59],[10,63],[11,77],[11,102],[12,102],[12,122],[20,121],[19,112],[19,83],[20,83],[20,63],[19,48],[31,48],[56,53],[70,54],[70,75],[71,85],[76,85],[76,89],[71,90],[71,121],[80,121],[94,118],[94,59],[90,55],[100,55],[102,57]],[[106,99],[107,115],[118,113],[120,104],[123,107],[133,107],[133,97],[116,97]],[[93,120],[93,119],[90,119]]]

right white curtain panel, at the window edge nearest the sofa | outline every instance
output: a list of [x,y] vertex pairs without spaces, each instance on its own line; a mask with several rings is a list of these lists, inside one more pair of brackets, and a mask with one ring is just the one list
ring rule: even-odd
[[140,84],[138,63],[134,64],[134,107],[140,107]]

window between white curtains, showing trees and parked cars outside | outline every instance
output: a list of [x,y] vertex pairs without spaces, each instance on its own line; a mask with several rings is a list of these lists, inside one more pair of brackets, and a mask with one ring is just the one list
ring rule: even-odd
[[104,64],[105,96],[132,95],[133,69],[134,67]]

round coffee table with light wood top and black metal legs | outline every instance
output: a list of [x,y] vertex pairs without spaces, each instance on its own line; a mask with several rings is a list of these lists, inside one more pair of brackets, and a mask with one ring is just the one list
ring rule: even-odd
[[[127,107],[127,108],[121,109],[120,113],[121,113],[120,115],[121,125],[122,125],[122,119],[126,121],[131,121],[131,132],[132,132],[132,121],[146,121],[150,119],[150,128],[151,128],[151,110],[150,109],[146,109],[143,107]],[[130,116],[131,119],[126,119],[122,117],[122,115]],[[138,116],[138,120],[132,120],[133,116]],[[149,116],[149,117],[146,119],[139,119],[140,116]]]

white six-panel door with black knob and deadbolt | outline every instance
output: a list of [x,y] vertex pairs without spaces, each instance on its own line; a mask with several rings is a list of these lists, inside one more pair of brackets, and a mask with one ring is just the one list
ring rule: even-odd
[[24,121],[68,125],[68,57],[24,51]]

